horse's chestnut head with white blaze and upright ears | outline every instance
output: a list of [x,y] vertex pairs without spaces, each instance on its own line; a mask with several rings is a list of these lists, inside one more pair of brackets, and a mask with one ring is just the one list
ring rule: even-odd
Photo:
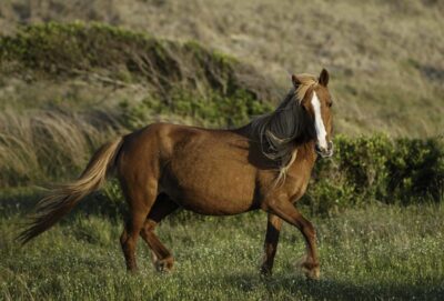
[[[301,84],[301,80],[296,76],[292,76],[294,87]],[[316,152],[323,157],[331,157],[333,154],[333,121],[332,121],[332,97],[329,92],[329,72],[322,69],[317,83],[307,89],[303,96],[301,104],[311,116],[315,129],[315,149]]]

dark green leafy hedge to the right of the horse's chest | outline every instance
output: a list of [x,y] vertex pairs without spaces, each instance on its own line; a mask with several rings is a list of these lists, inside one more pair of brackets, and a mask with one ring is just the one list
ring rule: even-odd
[[410,204],[444,199],[443,139],[337,137],[335,154],[316,162],[303,199],[329,214],[370,201]]

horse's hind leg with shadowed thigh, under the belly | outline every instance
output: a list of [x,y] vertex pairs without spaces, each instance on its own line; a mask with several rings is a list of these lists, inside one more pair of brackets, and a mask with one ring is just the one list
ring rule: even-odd
[[174,259],[171,252],[160,242],[154,233],[154,228],[167,215],[175,211],[179,205],[173,202],[167,194],[161,193],[155,200],[140,235],[148,243],[153,252],[153,264],[158,271],[171,270]]

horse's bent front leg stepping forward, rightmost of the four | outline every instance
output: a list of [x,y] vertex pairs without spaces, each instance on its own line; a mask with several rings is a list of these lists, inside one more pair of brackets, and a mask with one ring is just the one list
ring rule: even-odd
[[320,278],[320,263],[316,248],[316,232],[313,224],[307,221],[297,209],[286,199],[266,202],[264,209],[284,221],[295,225],[305,239],[306,258],[301,262],[301,268],[310,279]]

